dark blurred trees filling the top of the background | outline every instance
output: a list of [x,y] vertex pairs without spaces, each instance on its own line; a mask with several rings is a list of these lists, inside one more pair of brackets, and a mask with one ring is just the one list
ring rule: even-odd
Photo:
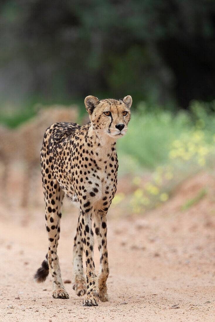
[[213,0],[2,0],[0,96],[214,98]]

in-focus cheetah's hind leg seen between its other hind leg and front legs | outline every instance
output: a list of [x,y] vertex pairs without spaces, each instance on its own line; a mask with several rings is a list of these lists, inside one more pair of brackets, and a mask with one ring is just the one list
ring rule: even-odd
[[77,296],[82,296],[86,293],[86,278],[83,269],[83,242],[81,237],[80,216],[78,218],[76,236],[73,246],[73,289]]

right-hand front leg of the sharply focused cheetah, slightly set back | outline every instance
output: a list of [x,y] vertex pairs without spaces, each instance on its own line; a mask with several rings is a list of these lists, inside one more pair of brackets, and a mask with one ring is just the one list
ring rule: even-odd
[[109,275],[109,268],[107,249],[107,221],[106,213],[104,211],[94,211],[94,228],[100,255],[100,269],[98,273],[99,298],[102,302],[105,302],[108,301],[106,281]]

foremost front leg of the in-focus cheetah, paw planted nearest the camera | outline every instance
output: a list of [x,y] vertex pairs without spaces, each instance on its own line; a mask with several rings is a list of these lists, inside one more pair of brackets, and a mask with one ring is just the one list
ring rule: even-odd
[[[89,200],[83,200],[83,207],[90,206]],[[93,207],[82,209],[80,213],[80,228],[83,240],[85,258],[86,258],[86,271],[87,271],[87,296],[83,300],[83,306],[97,306],[98,305],[98,279],[95,272],[95,264],[93,259],[94,252],[94,233],[92,231],[92,212]]]

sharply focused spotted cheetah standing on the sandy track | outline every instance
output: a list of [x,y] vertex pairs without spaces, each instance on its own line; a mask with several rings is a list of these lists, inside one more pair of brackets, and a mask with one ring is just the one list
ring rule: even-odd
[[[80,207],[73,246],[73,289],[86,293],[83,306],[108,301],[107,222],[108,208],[117,189],[118,159],[116,140],[126,134],[131,117],[131,96],[123,100],[85,98],[90,122],[55,123],[45,132],[41,149],[42,183],[46,202],[48,253],[34,278],[43,282],[51,273],[53,298],[69,298],[63,285],[57,245],[64,196]],[[100,256],[98,277],[95,271],[94,229]],[[83,250],[86,275],[83,270]]]

